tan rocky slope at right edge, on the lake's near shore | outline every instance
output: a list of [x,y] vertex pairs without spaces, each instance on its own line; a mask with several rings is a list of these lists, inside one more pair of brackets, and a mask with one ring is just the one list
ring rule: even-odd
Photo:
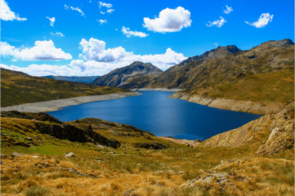
[[[268,136],[266,142],[263,141],[265,136]],[[261,145],[255,156],[294,148],[294,100],[279,111],[266,114],[237,129],[212,136],[201,142],[199,147],[237,147],[253,142]]]

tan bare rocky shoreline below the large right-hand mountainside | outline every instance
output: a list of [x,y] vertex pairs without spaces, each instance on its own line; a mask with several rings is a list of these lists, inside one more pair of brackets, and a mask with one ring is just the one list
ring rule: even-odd
[[203,98],[200,95],[191,95],[189,93],[180,92],[173,93],[168,98],[182,99],[193,103],[199,103],[203,106],[209,106],[212,108],[248,112],[254,114],[268,114],[274,111],[278,111],[284,106],[286,106],[286,103],[282,102],[244,101],[211,97]]

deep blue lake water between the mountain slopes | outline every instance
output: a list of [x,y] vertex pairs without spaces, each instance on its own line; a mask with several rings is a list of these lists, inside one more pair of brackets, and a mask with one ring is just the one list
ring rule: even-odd
[[156,136],[191,140],[201,138],[205,140],[263,116],[167,98],[173,92],[140,91],[140,93],[143,94],[83,103],[47,113],[65,122],[94,117],[132,125],[150,131]]

